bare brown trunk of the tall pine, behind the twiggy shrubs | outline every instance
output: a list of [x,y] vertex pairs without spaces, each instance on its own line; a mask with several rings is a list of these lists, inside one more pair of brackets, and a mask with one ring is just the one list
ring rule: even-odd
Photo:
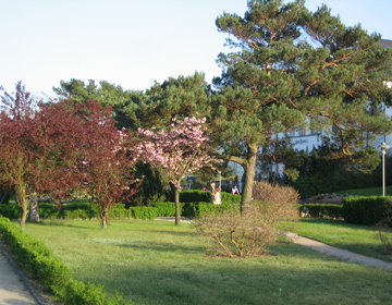
[[248,158],[246,160],[245,170],[245,181],[244,187],[242,190],[242,199],[241,199],[241,213],[243,213],[246,205],[250,204],[253,197],[253,187],[255,183],[255,170],[256,170],[256,160],[257,160],[258,145],[253,145],[248,147]]

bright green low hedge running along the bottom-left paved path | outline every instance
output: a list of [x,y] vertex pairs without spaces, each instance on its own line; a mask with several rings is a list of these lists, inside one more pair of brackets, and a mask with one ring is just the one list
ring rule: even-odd
[[119,304],[119,300],[107,298],[103,286],[73,279],[68,267],[42,242],[1,216],[0,234],[20,263],[63,304]]

